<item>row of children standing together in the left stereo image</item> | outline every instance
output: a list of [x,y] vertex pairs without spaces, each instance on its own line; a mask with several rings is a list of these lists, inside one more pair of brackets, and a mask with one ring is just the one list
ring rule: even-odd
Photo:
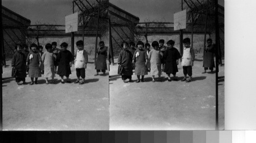
[[[35,43],[30,45],[30,52],[28,46],[24,44],[16,44],[16,52],[13,55],[12,67],[17,69],[15,79],[18,85],[26,84],[25,78],[28,72],[31,78],[30,85],[37,84],[38,77],[41,74],[45,75],[46,84],[55,83],[54,76],[57,73],[61,77],[61,83],[65,83],[63,76],[67,77],[66,82],[71,83],[69,75],[71,74],[72,61],[74,56],[67,50],[68,44],[63,42],[60,44],[60,49],[56,48],[57,43],[52,42],[45,45],[46,52],[42,52],[42,46],[37,46]],[[88,54],[84,50],[83,41],[76,42],[77,51],[75,53],[75,68],[77,80],[74,83],[83,84],[86,76],[85,69],[88,63]],[[39,48],[39,51],[38,51]],[[57,69],[58,67],[58,69]],[[80,81],[80,77],[82,80]],[[35,80],[34,80],[35,78]],[[23,81],[23,82],[22,82]]]

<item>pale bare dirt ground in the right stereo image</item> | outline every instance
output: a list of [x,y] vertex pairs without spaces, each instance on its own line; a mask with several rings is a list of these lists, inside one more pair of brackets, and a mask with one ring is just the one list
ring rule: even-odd
[[[186,83],[182,66],[179,81],[124,83],[110,67],[110,130],[214,130],[216,119],[216,74],[203,72],[203,56],[196,54],[193,81]],[[117,63],[117,59],[115,59]],[[224,63],[224,60],[222,60]],[[219,129],[224,129],[224,66],[219,67]],[[215,69],[214,69],[215,71]]]

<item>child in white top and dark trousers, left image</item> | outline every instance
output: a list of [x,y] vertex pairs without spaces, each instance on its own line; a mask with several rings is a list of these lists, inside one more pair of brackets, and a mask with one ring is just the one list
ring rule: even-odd
[[75,54],[75,68],[76,68],[76,76],[77,80],[75,83],[79,82],[80,76],[82,77],[82,81],[79,82],[79,84],[84,84],[86,78],[86,68],[87,68],[87,62],[88,62],[88,54],[87,51],[84,50],[83,47],[83,41],[79,40],[76,42],[77,51]]

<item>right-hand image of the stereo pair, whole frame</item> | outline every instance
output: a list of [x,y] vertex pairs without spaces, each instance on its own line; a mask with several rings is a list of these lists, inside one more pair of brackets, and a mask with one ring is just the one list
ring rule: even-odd
[[110,130],[223,130],[224,0],[109,2]]

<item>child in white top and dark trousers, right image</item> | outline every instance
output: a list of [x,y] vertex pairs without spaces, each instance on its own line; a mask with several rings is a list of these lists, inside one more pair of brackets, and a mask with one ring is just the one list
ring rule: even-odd
[[192,67],[194,66],[195,52],[194,49],[190,47],[189,38],[183,39],[183,44],[185,47],[183,48],[181,66],[183,66],[184,78],[181,81],[190,82],[192,80]]

